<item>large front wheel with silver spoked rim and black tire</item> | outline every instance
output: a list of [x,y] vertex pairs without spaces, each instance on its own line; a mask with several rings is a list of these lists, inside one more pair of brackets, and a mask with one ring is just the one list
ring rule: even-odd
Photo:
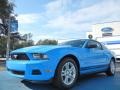
[[53,84],[60,89],[71,88],[78,78],[78,67],[74,59],[64,58],[58,65]]

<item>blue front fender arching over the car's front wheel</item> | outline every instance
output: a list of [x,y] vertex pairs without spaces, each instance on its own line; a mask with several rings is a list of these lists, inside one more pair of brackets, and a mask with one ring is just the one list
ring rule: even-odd
[[80,64],[79,55],[78,55],[77,51],[72,48],[54,49],[54,50],[47,52],[47,54],[48,54],[48,57],[50,58],[50,63],[51,63],[49,65],[54,66],[54,67],[52,67],[54,74],[55,74],[58,64],[65,56],[68,56],[68,55],[75,56],[79,62],[78,64]]

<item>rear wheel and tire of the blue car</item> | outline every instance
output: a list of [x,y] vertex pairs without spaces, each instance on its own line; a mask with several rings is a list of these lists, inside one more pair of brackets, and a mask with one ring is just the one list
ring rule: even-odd
[[109,64],[109,68],[108,68],[108,70],[106,71],[106,74],[107,74],[108,76],[113,76],[113,75],[115,75],[115,69],[116,69],[115,61],[114,61],[114,60],[111,60],[111,61],[110,61],[110,64]]

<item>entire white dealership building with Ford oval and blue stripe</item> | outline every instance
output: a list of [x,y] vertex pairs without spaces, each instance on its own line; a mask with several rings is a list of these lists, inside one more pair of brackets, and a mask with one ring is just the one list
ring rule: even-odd
[[120,21],[94,24],[86,35],[92,35],[93,39],[105,44],[120,60]]

